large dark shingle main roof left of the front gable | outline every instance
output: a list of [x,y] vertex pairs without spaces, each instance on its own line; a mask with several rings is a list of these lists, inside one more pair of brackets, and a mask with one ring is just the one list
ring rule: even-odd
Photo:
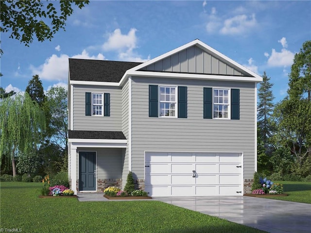
[[69,58],[70,80],[118,83],[126,70],[140,64],[139,62]]

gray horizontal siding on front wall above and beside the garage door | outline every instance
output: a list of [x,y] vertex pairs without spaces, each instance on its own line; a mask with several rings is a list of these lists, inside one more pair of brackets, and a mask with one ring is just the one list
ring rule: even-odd
[[[243,152],[244,179],[255,171],[255,84],[132,78],[132,171],[144,179],[144,151]],[[149,84],[188,87],[188,118],[149,117]],[[203,87],[239,88],[240,120],[204,119]]]

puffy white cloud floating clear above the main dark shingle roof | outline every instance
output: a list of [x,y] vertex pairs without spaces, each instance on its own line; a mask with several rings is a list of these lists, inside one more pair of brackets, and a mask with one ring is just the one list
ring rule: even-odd
[[135,28],[132,28],[126,35],[122,34],[119,28],[116,29],[113,33],[109,34],[108,41],[103,44],[103,49],[105,51],[135,49],[137,43],[136,31]]

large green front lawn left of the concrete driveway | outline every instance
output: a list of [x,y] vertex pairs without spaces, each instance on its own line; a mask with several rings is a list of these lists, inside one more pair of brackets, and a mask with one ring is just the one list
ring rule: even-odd
[[2,182],[0,228],[24,233],[262,233],[160,201],[39,199],[41,183]]

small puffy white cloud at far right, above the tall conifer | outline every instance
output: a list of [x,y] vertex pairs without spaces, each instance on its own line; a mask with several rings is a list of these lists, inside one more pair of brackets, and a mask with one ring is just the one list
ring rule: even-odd
[[268,66],[270,67],[286,67],[291,66],[294,60],[294,53],[290,50],[282,49],[277,52],[272,49],[271,56],[268,59]]

